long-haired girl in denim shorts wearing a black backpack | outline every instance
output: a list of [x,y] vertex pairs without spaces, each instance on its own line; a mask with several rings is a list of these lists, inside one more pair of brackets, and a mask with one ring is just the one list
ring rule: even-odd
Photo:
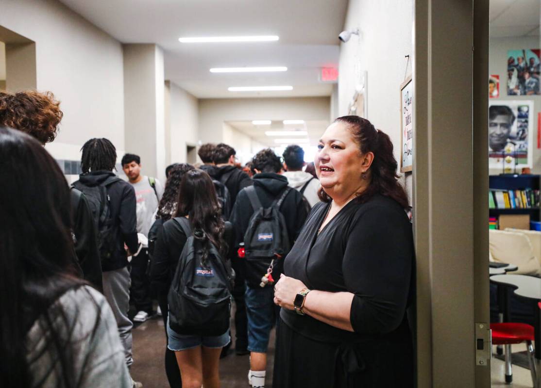
[[186,172],[175,217],[158,234],[150,274],[153,284],[169,289],[167,347],[184,388],[220,386],[220,353],[230,340],[232,239],[212,179],[199,169]]

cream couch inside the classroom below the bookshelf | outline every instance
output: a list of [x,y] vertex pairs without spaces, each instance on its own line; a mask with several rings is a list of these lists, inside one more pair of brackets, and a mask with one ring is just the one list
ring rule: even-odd
[[517,265],[513,273],[541,277],[541,232],[490,229],[489,250],[494,262]]

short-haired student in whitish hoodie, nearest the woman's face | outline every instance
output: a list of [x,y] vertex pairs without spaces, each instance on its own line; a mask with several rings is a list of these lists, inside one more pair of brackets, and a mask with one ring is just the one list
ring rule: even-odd
[[304,161],[304,150],[296,144],[288,145],[282,153],[283,167],[286,172],[283,176],[287,178],[289,187],[304,195],[310,208],[320,202],[318,190],[321,187],[318,178],[314,178],[311,173],[302,171],[306,165]]

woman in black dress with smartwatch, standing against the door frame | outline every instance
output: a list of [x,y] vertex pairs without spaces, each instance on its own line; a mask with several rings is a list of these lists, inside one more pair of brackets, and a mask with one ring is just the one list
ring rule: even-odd
[[413,386],[413,235],[391,139],[364,118],[340,117],[314,163],[323,202],[275,286],[273,386]]

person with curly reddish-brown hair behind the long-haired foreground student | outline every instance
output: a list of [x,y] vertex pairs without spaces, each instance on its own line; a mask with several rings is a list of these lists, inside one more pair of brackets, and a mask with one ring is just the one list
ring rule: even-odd
[[[43,145],[55,139],[62,116],[64,113],[60,110],[60,101],[51,92],[0,91],[0,126],[28,133]],[[102,269],[94,218],[83,193],[72,188],[70,194],[71,214],[74,217],[74,259],[83,277],[98,290],[102,290]]]

